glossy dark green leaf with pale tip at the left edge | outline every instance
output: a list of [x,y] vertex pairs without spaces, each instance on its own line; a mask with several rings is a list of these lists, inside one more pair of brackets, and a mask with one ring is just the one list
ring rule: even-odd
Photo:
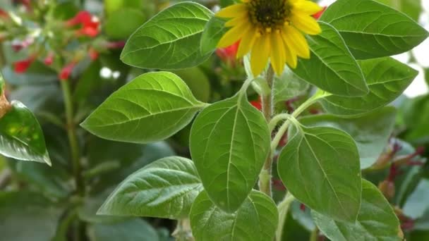
[[42,128],[35,116],[19,101],[0,119],[0,154],[23,161],[52,165]]

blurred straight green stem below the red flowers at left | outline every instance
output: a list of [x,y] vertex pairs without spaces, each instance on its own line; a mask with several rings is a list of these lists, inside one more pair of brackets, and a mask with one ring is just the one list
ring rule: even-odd
[[64,108],[66,109],[66,130],[68,144],[70,145],[76,190],[80,196],[83,196],[85,193],[85,185],[83,185],[83,178],[82,174],[80,173],[80,151],[78,137],[76,135],[76,126],[75,122],[73,121],[73,100],[71,99],[70,83],[68,80],[61,81],[61,89],[63,90]]

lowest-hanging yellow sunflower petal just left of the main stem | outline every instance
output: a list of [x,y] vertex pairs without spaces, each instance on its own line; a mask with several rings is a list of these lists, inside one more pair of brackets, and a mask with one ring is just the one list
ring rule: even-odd
[[255,40],[250,56],[250,68],[253,75],[259,75],[265,66],[267,66],[268,57],[270,56],[270,37],[262,35]]

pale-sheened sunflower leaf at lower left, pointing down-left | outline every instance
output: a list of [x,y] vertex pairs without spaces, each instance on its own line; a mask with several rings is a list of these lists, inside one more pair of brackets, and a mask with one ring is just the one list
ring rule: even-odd
[[97,214],[186,218],[200,190],[202,185],[193,162],[170,156],[123,180]]

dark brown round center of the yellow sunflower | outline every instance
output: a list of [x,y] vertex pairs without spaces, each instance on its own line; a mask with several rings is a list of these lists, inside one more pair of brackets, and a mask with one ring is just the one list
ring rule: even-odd
[[248,6],[252,23],[269,30],[282,27],[291,13],[288,0],[250,0]]

